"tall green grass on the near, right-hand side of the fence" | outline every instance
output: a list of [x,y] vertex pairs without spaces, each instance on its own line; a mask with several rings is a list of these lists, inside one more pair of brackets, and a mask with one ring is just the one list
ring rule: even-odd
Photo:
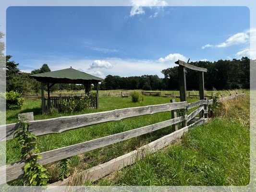
[[249,97],[226,101],[207,124],[96,183],[86,185],[247,185]]

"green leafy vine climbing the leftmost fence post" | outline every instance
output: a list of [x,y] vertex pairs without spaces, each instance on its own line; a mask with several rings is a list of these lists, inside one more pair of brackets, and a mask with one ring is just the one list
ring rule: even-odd
[[38,158],[42,158],[37,148],[37,137],[28,131],[29,124],[22,119],[20,126],[15,132],[14,137],[18,139],[21,147],[21,158],[25,161],[23,182],[24,185],[46,186],[49,180],[47,169],[37,163]]

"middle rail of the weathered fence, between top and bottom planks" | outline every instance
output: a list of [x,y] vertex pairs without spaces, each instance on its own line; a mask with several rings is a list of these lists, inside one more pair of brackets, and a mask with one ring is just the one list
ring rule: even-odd
[[[159,129],[162,129],[164,127],[171,126],[173,124],[179,123],[183,121],[183,117],[178,117],[171,120],[162,121],[159,123],[155,123],[152,125],[147,125],[145,127],[137,128],[134,130],[121,132],[113,135],[109,135],[106,137],[101,137],[98,139],[86,141],[80,144],[73,144],[67,147],[62,147],[59,149],[54,149],[51,151],[40,153],[42,156],[42,159],[38,159],[37,162],[41,165],[45,165],[51,162],[55,162],[70,156],[75,156],[78,154],[82,154],[94,149],[98,149],[110,144],[115,144],[121,141],[125,141],[127,139],[131,139],[143,134],[146,134],[148,132],[153,132]],[[16,162],[13,165],[7,165],[6,172],[7,172],[7,181],[15,180],[17,178],[20,178],[23,174],[22,168],[24,167],[24,163],[22,162]],[[0,167],[0,171],[4,170],[3,167]],[[2,180],[2,176],[0,176],[0,180]],[[1,181],[0,181],[1,184]]]

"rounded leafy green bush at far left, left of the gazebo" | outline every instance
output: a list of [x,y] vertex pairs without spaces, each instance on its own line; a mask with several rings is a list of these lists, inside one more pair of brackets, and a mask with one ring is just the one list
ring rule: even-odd
[[6,92],[6,108],[7,109],[21,109],[24,99],[21,97],[20,93],[10,91]]

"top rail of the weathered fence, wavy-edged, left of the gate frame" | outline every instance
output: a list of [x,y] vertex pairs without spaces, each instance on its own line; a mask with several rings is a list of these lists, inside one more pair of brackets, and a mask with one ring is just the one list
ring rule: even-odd
[[[164,111],[186,108],[186,105],[187,102],[177,102],[145,107],[123,108],[83,115],[63,116],[47,120],[34,120],[30,121],[29,131],[35,135],[59,133],[108,121],[118,121],[130,117],[150,115]],[[1,125],[0,130],[3,130],[5,126],[6,132],[0,132],[0,141],[4,140],[5,134],[6,140],[12,139],[12,132],[19,127],[19,124],[12,123],[8,125]]]

